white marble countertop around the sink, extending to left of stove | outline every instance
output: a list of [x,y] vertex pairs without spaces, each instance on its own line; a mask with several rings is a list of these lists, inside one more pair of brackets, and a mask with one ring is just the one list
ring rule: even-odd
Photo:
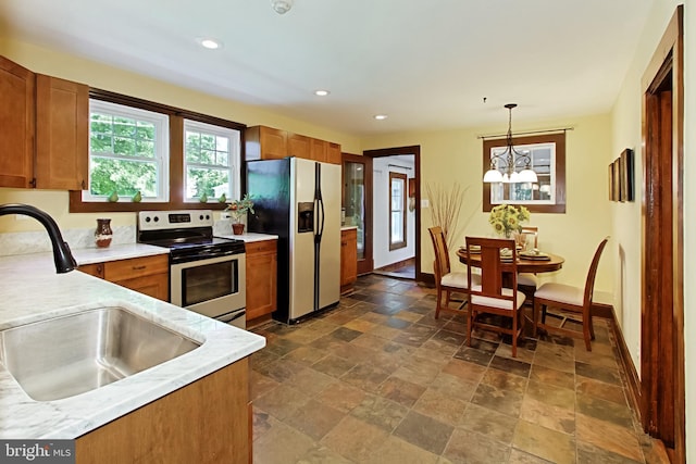
[[[87,263],[142,256],[147,246],[75,250]],[[135,255],[129,253],[135,252]],[[166,252],[166,251],[165,251]],[[113,258],[113,256],[120,258]],[[51,253],[0,258],[0,330],[102,306],[122,306],[202,344],[178,358],[75,397],[34,401],[0,364],[0,438],[79,437],[265,346],[265,339],[80,272],[57,274]],[[41,355],[41,353],[36,353]]]

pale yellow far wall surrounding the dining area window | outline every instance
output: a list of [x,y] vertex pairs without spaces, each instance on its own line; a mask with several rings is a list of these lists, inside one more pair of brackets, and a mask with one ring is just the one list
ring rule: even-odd
[[[523,105],[520,106],[523,111]],[[421,196],[426,199],[426,184],[451,186],[459,183],[467,189],[464,204],[457,228],[457,243],[463,244],[465,235],[493,234],[488,213],[482,212],[483,177],[482,134],[500,134],[506,129],[505,109],[500,108],[500,125],[476,129],[393,134],[363,140],[365,149],[421,146]],[[583,285],[593,253],[602,238],[611,234],[611,206],[607,200],[607,163],[611,152],[611,120],[609,115],[574,117],[562,121],[537,122],[534,125],[517,125],[513,130],[573,127],[567,133],[566,214],[533,213],[530,225],[539,227],[539,248],[566,258],[563,269],[542,276],[574,285]],[[421,269],[433,272],[433,247],[427,233],[431,227],[431,210],[422,209]],[[453,251],[453,250],[452,250]],[[596,289],[613,292],[613,260],[607,252],[600,262]],[[458,269],[463,266],[453,263]],[[605,300],[607,299],[604,296]],[[611,301],[609,301],[611,302]]]

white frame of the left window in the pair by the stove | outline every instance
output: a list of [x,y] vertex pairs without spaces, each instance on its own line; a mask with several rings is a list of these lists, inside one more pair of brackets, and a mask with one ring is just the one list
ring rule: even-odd
[[[91,123],[91,113],[100,112],[121,117],[130,117],[138,121],[152,123],[156,127],[156,145],[154,145],[154,163],[157,165],[157,197],[142,197],[142,202],[169,202],[170,199],[170,117],[166,114],[154,111],[141,110],[139,108],[127,106],[124,104],[112,103],[102,100],[89,99],[89,120]],[[89,129],[89,139],[91,140],[91,124]],[[133,161],[130,156],[109,156],[104,153],[98,154],[100,158],[113,158],[117,160]],[[89,165],[91,166],[91,146],[89,148]],[[91,185],[91,167],[89,172],[89,181]],[[82,191],[84,202],[104,202],[108,195],[91,195],[91,189]]]

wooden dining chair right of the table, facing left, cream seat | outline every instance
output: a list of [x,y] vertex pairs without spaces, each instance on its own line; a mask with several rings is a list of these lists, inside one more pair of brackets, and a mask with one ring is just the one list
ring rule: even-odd
[[[599,258],[607,246],[609,237],[605,238],[597,247],[595,255],[592,259],[585,287],[574,287],[566,284],[546,283],[543,284],[534,293],[534,335],[536,336],[539,328],[546,331],[554,331],[569,337],[582,338],[585,340],[585,349],[592,351],[591,340],[595,339],[595,329],[592,324],[592,297],[595,287],[595,277],[597,276],[597,266],[599,266]],[[583,331],[571,330],[563,325],[568,317],[560,315],[560,326],[546,324],[547,309],[558,309],[561,311],[580,314]],[[540,321],[538,319],[540,313]],[[573,319],[574,321],[574,319]]]

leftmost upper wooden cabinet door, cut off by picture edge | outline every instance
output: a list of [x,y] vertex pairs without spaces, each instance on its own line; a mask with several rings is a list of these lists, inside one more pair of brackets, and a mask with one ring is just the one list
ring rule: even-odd
[[0,57],[0,187],[34,186],[35,76]]

